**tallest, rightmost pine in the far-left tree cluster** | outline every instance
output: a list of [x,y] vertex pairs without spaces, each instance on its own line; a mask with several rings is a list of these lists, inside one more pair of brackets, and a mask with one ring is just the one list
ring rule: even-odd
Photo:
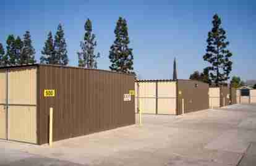
[[32,46],[30,32],[26,31],[23,35],[23,49],[20,57],[20,64],[35,64],[35,49]]

